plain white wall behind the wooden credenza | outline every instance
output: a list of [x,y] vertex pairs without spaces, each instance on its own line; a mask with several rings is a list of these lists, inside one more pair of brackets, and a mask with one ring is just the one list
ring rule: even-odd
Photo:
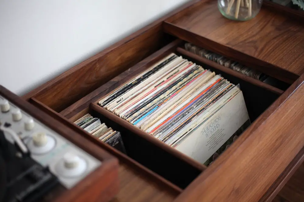
[[188,0],[0,0],[0,84],[22,95]]

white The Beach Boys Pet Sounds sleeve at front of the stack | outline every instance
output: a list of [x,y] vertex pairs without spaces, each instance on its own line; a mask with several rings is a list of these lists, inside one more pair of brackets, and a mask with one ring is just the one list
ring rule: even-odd
[[204,164],[248,120],[240,91],[175,148]]

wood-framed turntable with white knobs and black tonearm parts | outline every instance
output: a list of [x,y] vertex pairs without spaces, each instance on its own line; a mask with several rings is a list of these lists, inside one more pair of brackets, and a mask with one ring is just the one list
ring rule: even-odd
[[0,202],[105,201],[111,194],[104,192],[117,189],[117,167],[110,154],[0,86]]

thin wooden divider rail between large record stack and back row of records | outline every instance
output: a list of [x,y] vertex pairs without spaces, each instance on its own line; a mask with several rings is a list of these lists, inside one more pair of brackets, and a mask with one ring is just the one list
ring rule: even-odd
[[280,94],[282,94],[284,92],[284,91],[282,91],[282,90],[280,90],[278,88],[275,88],[275,87],[273,87],[273,86],[271,86],[269,84],[266,84],[266,83],[264,83],[262,81],[259,81],[257,79],[254,79],[254,78],[251,78],[251,77],[246,76],[244,74],[241,74],[240,72],[234,71],[234,70],[232,70],[230,68],[227,68],[227,67],[225,67],[223,65],[220,65],[220,64],[218,64],[216,62],[213,62],[211,60],[208,60],[207,58],[203,58],[203,57],[201,57],[199,55],[196,55],[196,54],[194,54],[192,52],[186,51],[183,48],[177,48],[177,52],[179,52],[179,53],[181,53],[183,55],[186,55],[186,56],[188,56],[190,58],[194,58],[197,61],[200,61],[200,62],[202,62],[202,63],[204,63],[206,65],[209,65],[209,66],[211,66],[213,68],[219,69],[219,70],[221,70],[223,72],[226,72],[227,74],[233,75],[233,76],[235,76],[237,78],[240,78],[240,79],[242,79],[244,81],[247,81],[247,82],[249,82],[251,84],[254,84],[254,85],[259,86],[261,88],[265,88],[266,90],[274,92],[276,94],[280,95]]

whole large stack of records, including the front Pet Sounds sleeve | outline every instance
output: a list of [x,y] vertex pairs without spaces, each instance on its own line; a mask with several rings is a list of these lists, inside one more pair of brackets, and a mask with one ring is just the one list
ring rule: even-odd
[[206,165],[250,123],[239,86],[174,53],[98,104]]

